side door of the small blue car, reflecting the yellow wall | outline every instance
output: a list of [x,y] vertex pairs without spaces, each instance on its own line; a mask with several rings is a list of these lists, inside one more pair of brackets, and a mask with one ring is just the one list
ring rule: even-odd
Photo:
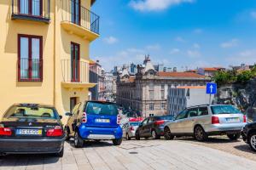
[[71,116],[69,116],[68,121],[67,121],[67,126],[69,127],[70,134],[74,133],[75,127],[77,125],[77,119],[79,116],[79,107],[81,103],[75,105],[73,107],[73,111],[71,112]]

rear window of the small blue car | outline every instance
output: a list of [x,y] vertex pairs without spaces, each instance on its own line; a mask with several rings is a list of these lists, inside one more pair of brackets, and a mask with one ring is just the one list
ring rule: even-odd
[[85,108],[86,114],[89,115],[118,115],[117,105],[88,102]]

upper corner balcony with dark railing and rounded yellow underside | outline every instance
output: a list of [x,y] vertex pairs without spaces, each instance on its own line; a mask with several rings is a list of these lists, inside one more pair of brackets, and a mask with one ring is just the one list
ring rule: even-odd
[[99,37],[100,17],[80,5],[79,0],[62,0],[61,26],[70,34],[95,40]]

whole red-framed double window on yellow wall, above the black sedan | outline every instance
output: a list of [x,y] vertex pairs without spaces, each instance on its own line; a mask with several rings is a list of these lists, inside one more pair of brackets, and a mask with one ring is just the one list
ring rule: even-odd
[[18,35],[18,79],[20,82],[43,80],[43,37]]

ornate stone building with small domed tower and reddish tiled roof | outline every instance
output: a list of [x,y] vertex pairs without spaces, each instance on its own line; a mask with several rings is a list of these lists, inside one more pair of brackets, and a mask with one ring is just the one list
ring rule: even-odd
[[168,88],[205,86],[209,81],[209,78],[193,72],[155,71],[147,56],[143,65],[137,65],[136,76],[131,77],[125,69],[118,75],[116,101],[143,116],[166,115]]

